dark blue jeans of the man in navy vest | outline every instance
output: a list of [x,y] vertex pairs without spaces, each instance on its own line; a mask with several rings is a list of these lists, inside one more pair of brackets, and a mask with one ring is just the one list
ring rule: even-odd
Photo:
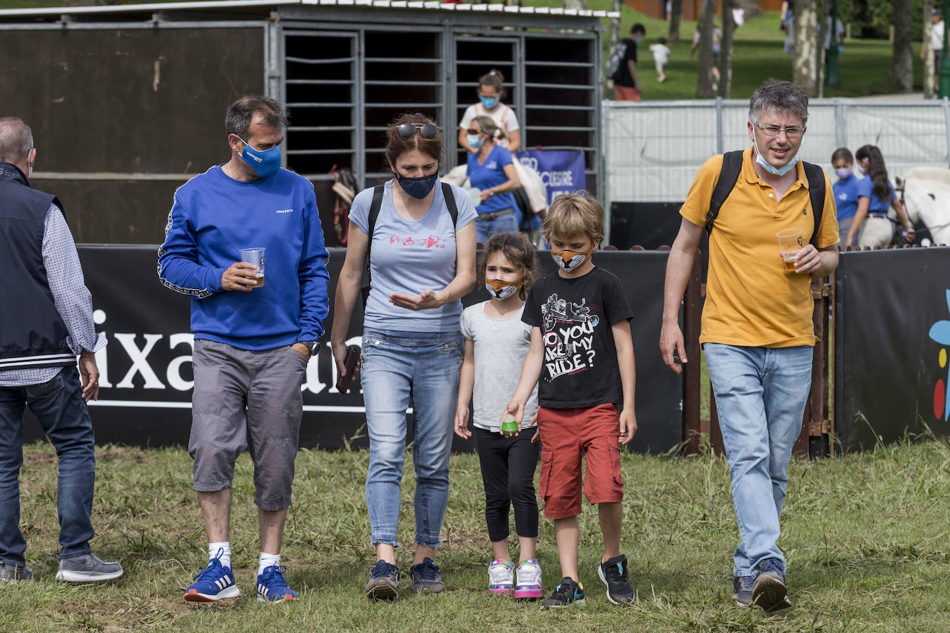
[[89,552],[92,490],[96,478],[95,438],[82,397],[79,370],[65,367],[56,378],[24,387],[0,387],[0,561],[23,565],[27,541],[20,531],[20,466],[23,413],[27,405],[43,425],[59,456],[56,510],[60,558]]

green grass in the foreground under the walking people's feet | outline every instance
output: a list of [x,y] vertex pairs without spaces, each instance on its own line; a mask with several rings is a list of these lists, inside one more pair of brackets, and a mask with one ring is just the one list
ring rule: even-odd
[[[641,424],[649,420],[640,420]],[[776,616],[731,601],[736,526],[721,458],[623,457],[623,550],[637,603],[610,605],[597,578],[597,513],[581,515],[581,581],[588,604],[542,613],[537,603],[489,596],[484,496],[473,455],[453,456],[440,550],[447,592],[373,604],[363,483],[366,452],[297,456],[295,505],[283,562],[302,600],[257,603],[251,464],[238,461],[232,543],[244,591],[228,605],[187,605],[183,587],[204,563],[204,535],[183,450],[98,452],[93,548],[125,575],[105,586],[52,580],[58,553],[56,458],[29,446],[22,525],[33,584],[0,586],[2,631],[945,631],[950,622],[950,442],[792,462],[781,546],[795,608]],[[408,461],[410,457],[408,457]],[[411,466],[407,463],[407,473]],[[412,483],[403,486],[400,536],[411,540]],[[542,520],[545,591],[559,578],[551,523]],[[400,551],[409,568],[411,552]],[[403,586],[406,586],[404,580]]]

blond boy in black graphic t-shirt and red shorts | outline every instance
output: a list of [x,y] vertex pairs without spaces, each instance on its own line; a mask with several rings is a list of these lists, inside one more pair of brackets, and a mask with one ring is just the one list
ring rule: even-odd
[[629,603],[635,596],[620,553],[620,444],[637,431],[633,312],[617,276],[591,261],[603,239],[603,207],[596,199],[559,195],[543,231],[561,270],[535,282],[524,304],[531,348],[506,408],[521,422],[524,403],[541,379],[532,441],[541,437],[544,516],[554,519],[563,576],[542,608],[584,602],[578,578],[581,457],[587,461],[584,494],[598,504],[603,535],[600,580],[610,602]]

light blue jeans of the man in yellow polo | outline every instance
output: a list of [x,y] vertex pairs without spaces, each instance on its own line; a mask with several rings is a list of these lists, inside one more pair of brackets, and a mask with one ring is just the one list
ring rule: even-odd
[[776,545],[791,448],[802,431],[813,349],[704,345],[739,524],[735,576],[755,575]]

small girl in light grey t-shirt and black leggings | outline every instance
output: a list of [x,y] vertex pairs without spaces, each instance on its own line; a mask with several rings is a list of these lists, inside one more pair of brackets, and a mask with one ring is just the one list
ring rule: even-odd
[[[522,323],[524,295],[538,264],[535,249],[523,233],[498,233],[488,238],[479,259],[479,280],[491,299],[462,312],[466,355],[459,379],[455,433],[470,438],[468,402],[475,391],[475,441],[485,482],[485,521],[494,556],[488,566],[488,590],[515,598],[542,598],[541,566],[535,558],[538,541],[538,501],[534,474],[538,466],[538,390],[526,401],[529,421],[521,432],[505,434],[499,419],[518,385],[524,357],[531,344],[531,327]],[[518,568],[508,553],[508,509],[515,507]]]

